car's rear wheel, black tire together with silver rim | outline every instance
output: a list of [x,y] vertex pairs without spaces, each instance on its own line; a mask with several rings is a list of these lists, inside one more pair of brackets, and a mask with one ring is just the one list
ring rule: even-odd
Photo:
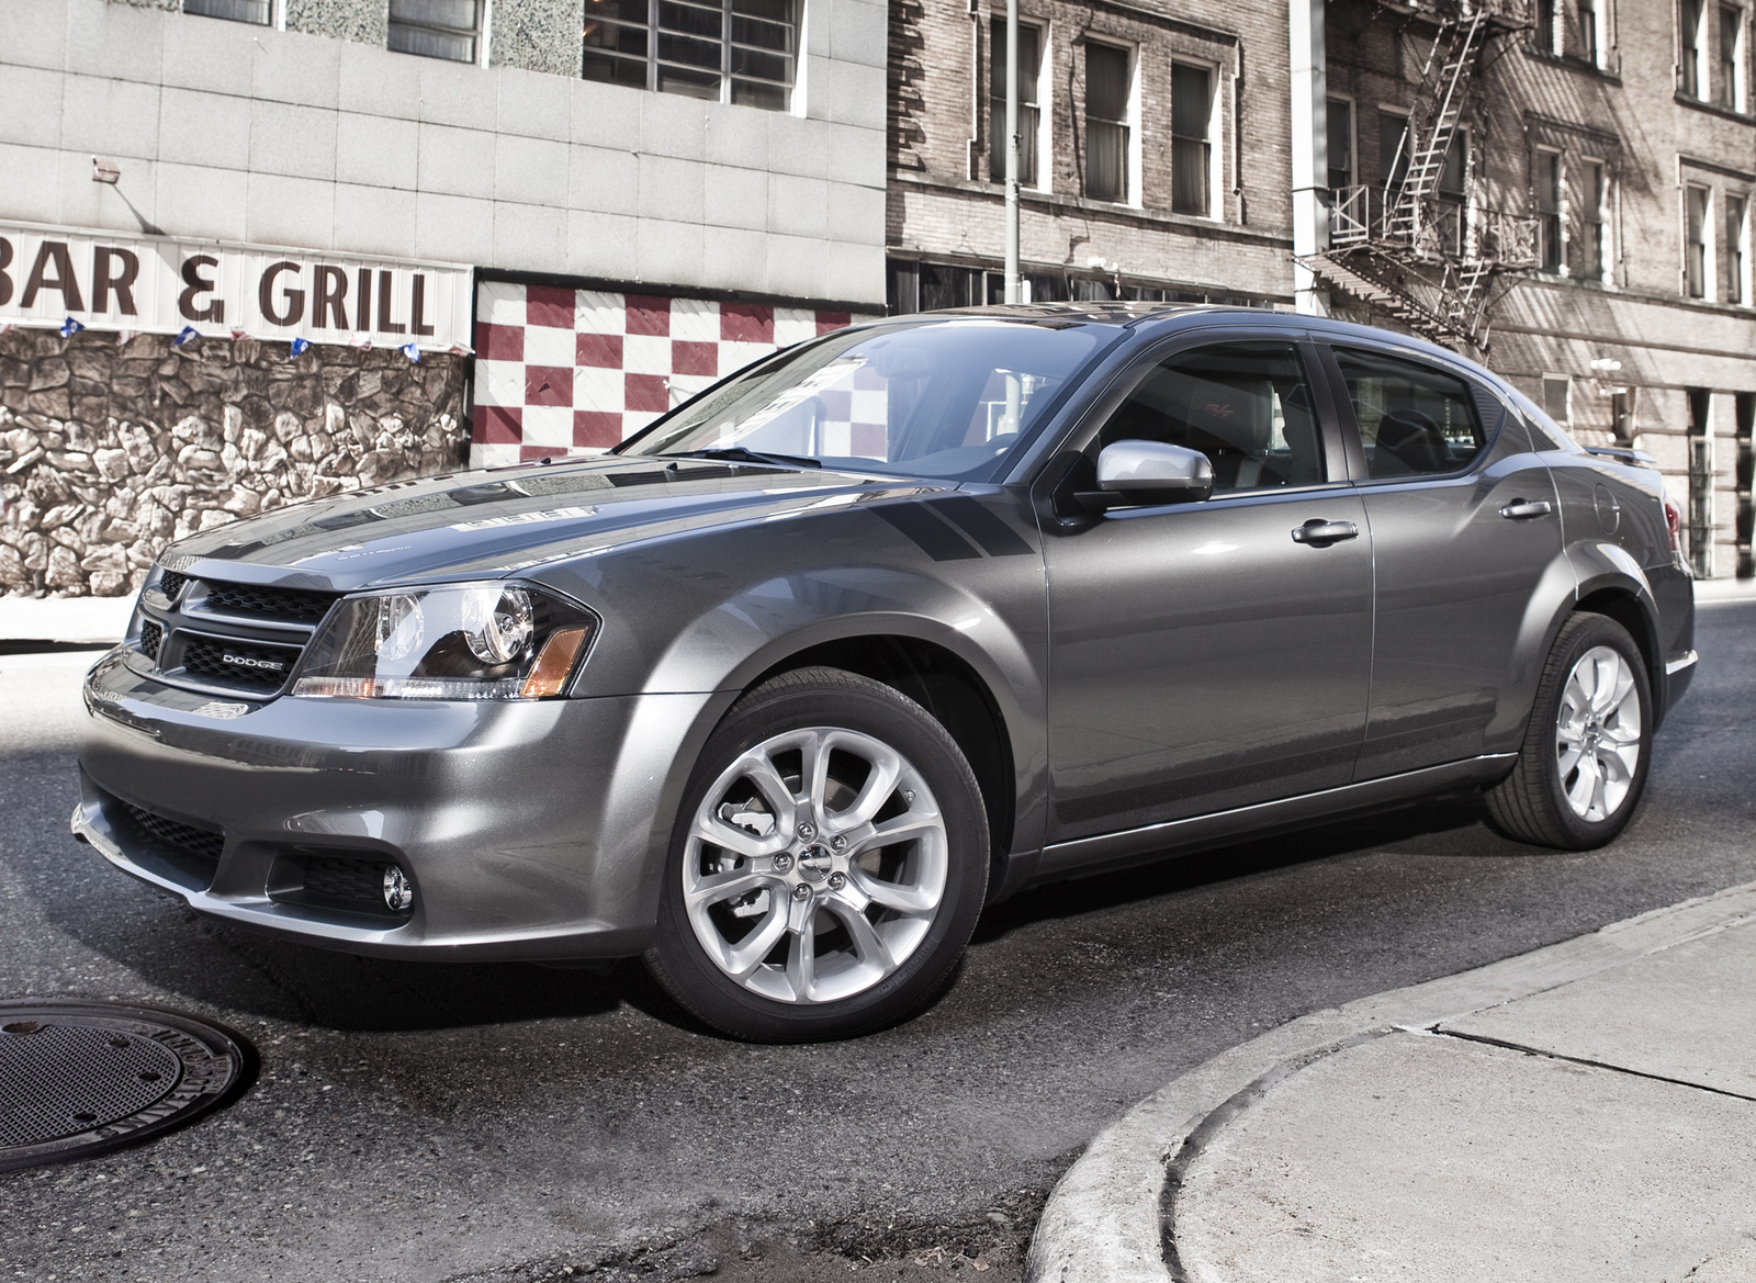
[[1628,827],[1651,758],[1640,648],[1614,620],[1575,614],[1544,663],[1519,762],[1487,790],[1487,814],[1521,842],[1589,851]]

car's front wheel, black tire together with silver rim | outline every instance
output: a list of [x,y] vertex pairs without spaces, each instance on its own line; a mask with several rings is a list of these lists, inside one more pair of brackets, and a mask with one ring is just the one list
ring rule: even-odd
[[732,1037],[867,1034],[950,981],[987,871],[987,811],[945,727],[882,683],[799,669],[708,739],[646,965]]

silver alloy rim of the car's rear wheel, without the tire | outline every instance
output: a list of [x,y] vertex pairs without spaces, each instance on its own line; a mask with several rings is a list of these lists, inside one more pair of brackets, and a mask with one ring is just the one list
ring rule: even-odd
[[1640,697],[1619,651],[1593,646],[1579,656],[1561,690],[1554,739],[1568,807],[1580,820],[1608,820],[1640,765]]

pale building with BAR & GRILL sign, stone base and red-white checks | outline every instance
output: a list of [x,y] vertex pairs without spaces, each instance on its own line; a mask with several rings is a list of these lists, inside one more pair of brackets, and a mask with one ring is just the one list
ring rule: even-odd
[[[882,311],[883,7],[592,7],[0,5],[0,588],[126,591],[242,509],[602,448]],[[392,355],[421,377],[341,398]],[[163,534],[105,512],[100,455]]]

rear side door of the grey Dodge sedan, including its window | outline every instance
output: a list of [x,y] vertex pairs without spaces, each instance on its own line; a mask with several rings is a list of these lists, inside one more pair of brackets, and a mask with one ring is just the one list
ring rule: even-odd
[[1561,553],[1549,469],[1459,370],[1364,344],[1328,358],[1375,560],[1356,779],[1510,751],[1528,709],[1508,690],[1528,690],[1544,660],[1529,613]]

